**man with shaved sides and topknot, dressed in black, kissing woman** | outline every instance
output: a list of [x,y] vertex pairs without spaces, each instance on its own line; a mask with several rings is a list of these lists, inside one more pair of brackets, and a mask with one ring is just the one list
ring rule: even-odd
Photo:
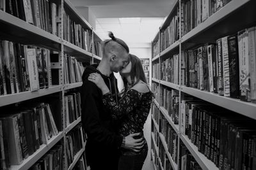
[[113,72],[119,72],[129,63],[129,47],[113,34],[109,34],[109,37],[111,39],[104,41],[102,46],[103,57],[99,66],[89,66],[83,73],[82,123],[88,135],[86,159],[92,170],[117,169],[118,148],[138,151],[143,145],[142,139],[133,138],[138,134],[130,134],[125,138],[116,134],[116,124],[102,103],[101,90],[88,80],[91,73],[99,73],[117,102],[118,90]]

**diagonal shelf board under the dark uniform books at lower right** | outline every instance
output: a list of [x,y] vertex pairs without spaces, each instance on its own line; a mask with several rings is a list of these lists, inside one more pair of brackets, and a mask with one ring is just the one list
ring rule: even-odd
[[209,170],[218,170],[219,168],[216,167],[216,165],[207,157],[205,157],[204,154],[198,152],[198,148],[191,143],[191,141],[188,139],[187,136],[184,136],[180,134],[180,139],[184,143],[184,145],[188,148],[189,152],[193,155],[196,162],[202,167],[202,169],[209,169]]

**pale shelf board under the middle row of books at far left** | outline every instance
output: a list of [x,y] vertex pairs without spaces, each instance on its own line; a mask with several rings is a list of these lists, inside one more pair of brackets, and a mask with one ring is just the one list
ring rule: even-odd
[[34,99],[36,97],[46,96],[46,95],[53,94],[56,92],[61,92],[61,90],[62,90],[62,86],[56,85],[56,86],[49,87],[48,89],[40,89],[35,92],[31,92],[31,91],[20,92],[20,93],[16,93],[16,94],[8,94],[8,95],[0,96],[0,107],[6,106],[8,104],[26,101],[29,99]]

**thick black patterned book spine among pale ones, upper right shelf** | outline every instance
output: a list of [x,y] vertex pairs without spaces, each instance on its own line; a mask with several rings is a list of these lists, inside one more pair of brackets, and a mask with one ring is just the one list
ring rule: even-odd
[[230,75],[230,97],[239,98],[239,61],[237,36],[228,37],[228,62]]

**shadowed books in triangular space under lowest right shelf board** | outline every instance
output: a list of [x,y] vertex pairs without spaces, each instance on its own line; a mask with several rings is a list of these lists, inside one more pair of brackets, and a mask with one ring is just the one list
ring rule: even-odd
[[202,170],[195,158],[184,144],[180,145],[180,169],[181,170]]

